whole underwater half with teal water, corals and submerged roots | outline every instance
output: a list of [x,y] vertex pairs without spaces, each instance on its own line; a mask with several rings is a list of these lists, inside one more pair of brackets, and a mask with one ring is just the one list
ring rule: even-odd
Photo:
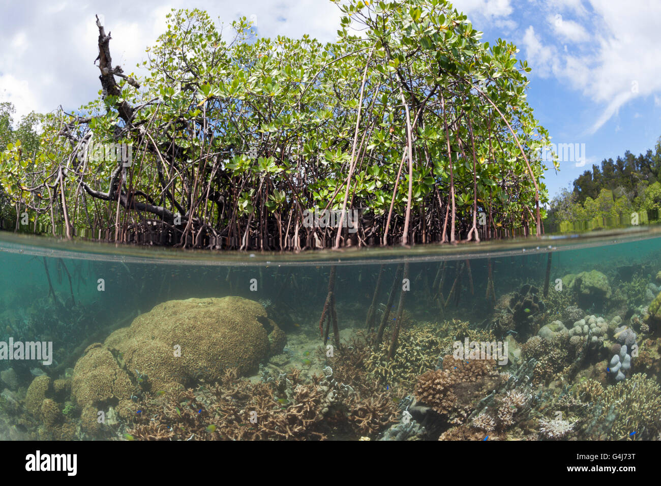
[[312,257],[0,239],[3,440],[658,440],[661,234]]

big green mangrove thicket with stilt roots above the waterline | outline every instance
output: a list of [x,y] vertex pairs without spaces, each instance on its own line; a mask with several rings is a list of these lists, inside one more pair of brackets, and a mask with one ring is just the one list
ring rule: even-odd
[[[336,3],[329,44],[258,38],[246,19],[230,38],[173,11],[140,79],[112,65],[97,23],[100,97],[43,117],[38,146],[2,140],[5,197],[69,237],[188,247],[539,234],[546,167],[531,155],[549,137],[516,46],[481,42],[444,0]],[[98,149],[111,144],[131,163]],[[340,211],[336,227],[305,225],[315,209]]]

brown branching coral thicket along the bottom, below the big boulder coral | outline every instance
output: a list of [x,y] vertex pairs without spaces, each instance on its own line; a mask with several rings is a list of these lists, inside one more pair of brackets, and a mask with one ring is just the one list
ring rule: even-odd
[[395,421],[397,406],[388,393],[363,400],[332,372],[311,384],[301,383],[297,371],[265,378],[251,383],[231,369],[213,385],[149,395],[128,434],[140,440],[319,440],[331,430],[365,435]]

